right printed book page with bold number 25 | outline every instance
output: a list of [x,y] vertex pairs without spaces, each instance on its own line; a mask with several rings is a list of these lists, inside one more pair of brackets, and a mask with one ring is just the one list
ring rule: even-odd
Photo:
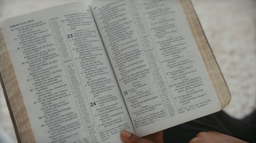
[[221,109],[180,1],[99,0],[91,9],[139,136]]

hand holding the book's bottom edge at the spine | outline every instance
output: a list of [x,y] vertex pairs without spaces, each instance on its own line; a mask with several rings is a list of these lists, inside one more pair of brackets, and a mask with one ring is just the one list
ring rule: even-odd
[[124,143],[164,143],[163,131],[159,131],[147,136],[139,137],[133,133],[123,130],[121,132],[121,139]]

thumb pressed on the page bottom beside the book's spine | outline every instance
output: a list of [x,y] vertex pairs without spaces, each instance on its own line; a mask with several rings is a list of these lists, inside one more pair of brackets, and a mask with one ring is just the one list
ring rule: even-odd
[[154,143],[125,130],[121,132],[121,139],[124,143]]

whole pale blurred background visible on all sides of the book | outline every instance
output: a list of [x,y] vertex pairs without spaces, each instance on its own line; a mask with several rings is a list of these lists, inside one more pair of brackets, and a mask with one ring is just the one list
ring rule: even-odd
[[[77,1],[0,0],[0,21],[70,2]],[[232,96],[230,104],[224,110],[232,117],[241,119],[256,109],[256,1],[191,0],[191,2]],[[0,87],[0,131],[1,128],[13,142],[17,142],[2,87]]]

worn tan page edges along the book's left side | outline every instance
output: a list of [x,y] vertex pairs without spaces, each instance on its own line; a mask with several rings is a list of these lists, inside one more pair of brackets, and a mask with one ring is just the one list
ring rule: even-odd
[[20,92],[10,55],[0,28],[1,84],[18,142],[35,142],[27,110]]

